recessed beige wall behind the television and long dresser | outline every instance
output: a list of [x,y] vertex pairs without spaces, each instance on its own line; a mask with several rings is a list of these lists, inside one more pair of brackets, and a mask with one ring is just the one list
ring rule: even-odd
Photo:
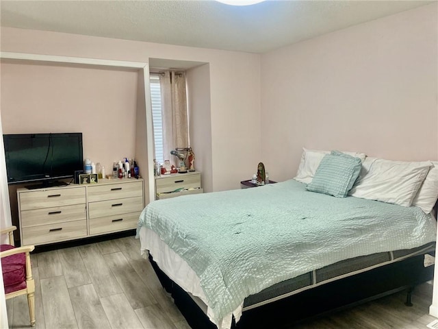
[[136,71],[1,64],[4,134],[82,132],[83,157],[105,166],[133,158]]

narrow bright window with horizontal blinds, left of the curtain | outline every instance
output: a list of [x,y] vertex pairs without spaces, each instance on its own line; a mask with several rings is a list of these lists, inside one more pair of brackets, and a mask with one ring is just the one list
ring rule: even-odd
[[163,120],[162,120],[162,90],[159,85],[159,75],[150,75],[153,138],[155,143],[155,159],[158,163],[164,163],[163,154]]

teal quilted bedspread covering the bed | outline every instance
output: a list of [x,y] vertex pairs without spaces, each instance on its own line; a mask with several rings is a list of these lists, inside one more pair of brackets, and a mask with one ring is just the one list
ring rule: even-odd
[[152,202],[146,226],[198,275],[220,321],[248,295],[348,258],[435,241],[420,208],[306,191],[288,180]]

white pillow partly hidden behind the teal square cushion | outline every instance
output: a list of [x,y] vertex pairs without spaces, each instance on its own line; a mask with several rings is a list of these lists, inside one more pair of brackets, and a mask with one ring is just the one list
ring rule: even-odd
[[[303,147],[300,165],[298,166],[298,171],[294,180],[309,184],[313,180],[313,176],[315,175],[316,169],[320,166],[322,158],[324,158],[326,154],[330,154],[330,152],[331,151],[322,151],[318,149],[306,149]],[[366,157],[364,153],[348,151],[342,151],[342,153],[359,158],[362,162]]]

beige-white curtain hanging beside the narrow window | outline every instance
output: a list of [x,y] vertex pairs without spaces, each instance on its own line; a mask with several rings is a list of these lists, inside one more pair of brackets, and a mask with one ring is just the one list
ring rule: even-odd
[[170,160],[177,167],[177,158],[170,155],[170,151],[189,146],[185,73],[164,72],[159,81],[162,89],[164,160]]

